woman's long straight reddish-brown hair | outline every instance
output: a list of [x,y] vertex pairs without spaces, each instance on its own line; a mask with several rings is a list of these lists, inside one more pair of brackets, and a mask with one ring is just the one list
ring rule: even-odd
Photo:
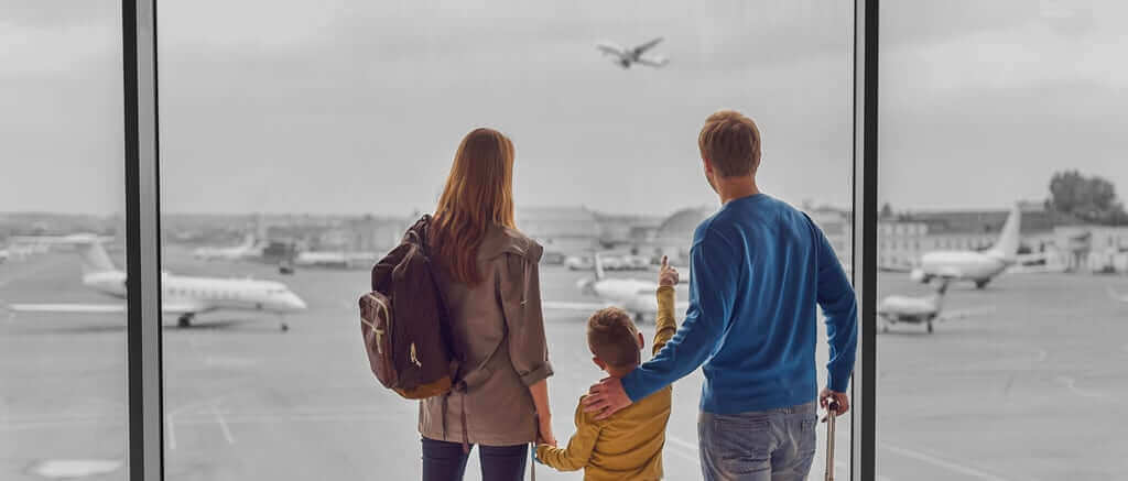
[[476,285],[478,246],[492,224],[513,228],[513,142],[493,128],[462,137],[434,210],[430,241],[452,278]]

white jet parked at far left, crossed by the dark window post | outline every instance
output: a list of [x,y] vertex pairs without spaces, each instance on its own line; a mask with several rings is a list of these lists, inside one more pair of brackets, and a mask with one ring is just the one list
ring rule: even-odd
[[[125,299],[125,273],[117,269],[100,242],[78,246],[82,259],[82,284],[112,297]],[[161,312],[177,317],[187,328],[197,314],[213,311],[257,311],[279,315],[306,310],[306,303],[282,283],[257,279],[190,277],[161,273]],[[125,303],[113,304],[9,304],[12,312],[113,313],[125,312]],[[289,330],[285,322],[279,326]]]

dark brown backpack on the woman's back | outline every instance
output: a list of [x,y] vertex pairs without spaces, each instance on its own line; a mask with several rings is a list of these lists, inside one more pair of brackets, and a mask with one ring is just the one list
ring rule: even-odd
[[406,399],[451,390],[458,373],[442,292],[428,257],[430,215],[372,267],[372,292],[360,299],[361,333],[372,373]]

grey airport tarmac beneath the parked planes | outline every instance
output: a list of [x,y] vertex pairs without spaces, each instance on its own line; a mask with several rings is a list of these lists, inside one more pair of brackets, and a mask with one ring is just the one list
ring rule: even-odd
[[[282,280],[310,306],[285,319],[289,332],[259,313],[202,314],[188,329],[165,320],[167,479],[418,479],[417,407],[379,385],[361,346],[355,301],[367,288],[365,270],[282,276],[265,265],[197,261],[175,248],[165,255],[176,274]],[[544,266],[543,297],[583,301],[575,282],[589,275]],[[0,301],[113,302],[85,290],[79,277],[73,253],[9,260],[0,265]],[[872,403],[879,479],[1128,476],[1128,304],[1109,299],[1108,286],[1128,292],[1128,278],[1004,275],[985,291],[955,285],[949,309],[978,314],[938,323],[932,335],[901,324],[879,335]],[[879,291],[928,288],[882,274]],[[573,431],[578,398],[601,377],[584,341],[585,318],[546,312],[561,443]],[[117,314],[0,319],[0,479],[125,479],[123,324]],[[651,326],[643,330],[649,345]],[[667,479],[700,479],[700,382],[698,371],[675,385]],[[822,476],[825,435],[820,425],[811,479]],[[838,479],[848,479],[849,435],[841,418]],[[543,465],[537,476],[582,479]],[[476,452],[466,479],[479,479]]]

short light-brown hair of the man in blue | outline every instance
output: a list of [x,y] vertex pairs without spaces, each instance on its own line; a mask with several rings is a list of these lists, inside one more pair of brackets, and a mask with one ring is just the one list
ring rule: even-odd
[[737,110],[717,110],[697,135],[702,157],[721,177],[752,173],[760,164],[760,130]]

